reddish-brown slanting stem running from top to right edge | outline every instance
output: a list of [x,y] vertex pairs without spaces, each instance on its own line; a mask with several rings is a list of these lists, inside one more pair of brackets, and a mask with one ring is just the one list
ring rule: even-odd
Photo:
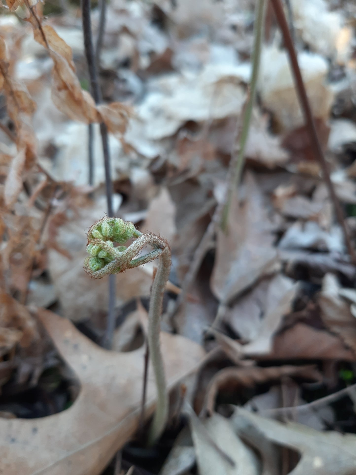
[[300,73],[297,54],[294,49],[293,40],[290,35],[290,31],[289,31],[286,16],[284,14],[283,6],[280,0],[270,0],[270,1],[272,2],[273,10],[276,15],[276,19],[279,24],[279,27],[282,30],[284,44],[286,46],[286,49],[288,50],[289,61],[290,61],[290,65],[293,71],[294,82],[295,82],[295,86],[298,93],[300,107],[303,111],[304,120],[307,125],[309,139],[310,139],[312,148],[314,150],[315,157],[317,158],[320,164],[321,170],[323,171],[323,178],[329,190],[330,199],[334,205],[337,221],[343,230],[348,253],[351,257],[352,262],[356,264],[355,251],[351,244],[347,225],[344,219],[343,210],[341,208],[340,202],[335,193],[334,185],[330,179],[330,173],[329,173],[327,161],[325,160],[324,153],[319,142],[317,130],[316,130],[314,119],[313,119],[313,114],[311,112],[307,92],[305,90],[302,75]]

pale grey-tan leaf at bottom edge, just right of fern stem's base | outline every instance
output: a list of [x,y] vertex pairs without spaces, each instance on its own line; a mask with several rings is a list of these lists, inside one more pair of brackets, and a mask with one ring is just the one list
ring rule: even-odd
[[[259,463],[254,452],[234,433],[228,419],[214,413],[199,423],[190,418],[192,439],[201,475],[257,475]],[[206,432],[205,432],[206,431]],[[206,434],[235,463],[227,460],[207,442]]]

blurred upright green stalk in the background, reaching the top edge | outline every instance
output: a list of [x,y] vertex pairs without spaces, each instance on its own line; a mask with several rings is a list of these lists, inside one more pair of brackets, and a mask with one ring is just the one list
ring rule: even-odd
[[[249,85],[249,96],[247,98],[247,103],[245,110],[243,112],[243,123],[240,136],[240,149],[236,161],[233,159],[234,151],[231,156],[231,167],[235,169],[231,170],[230,180],[228,183],[228,192],[227,199],[222,210],[221,216],[221,229],[226,231],[229,211],[231,207],[232,194],[235,188],[238,186],[241,180],[241,172],[243,165],[245,163],[245,148],[246,142],[249,136],[250,123],[252,116],[253,104],[255,103],[256,98],[256,89],[257,89],[257,78],[260,68],[260,57],[261,57],[261,47],[262,47],[262,37],[263,37],[263,19],[264,19],[264,10],[265,10],[265,0],[257,0],[256,10],[255,10],[255,23],[254,23],[254,40],[253,40],[253,59],[252,59],[252,74]],[[237,134],[238,135],[238,134]],[[238,137],[237,137],[238,138]],[[236,143],[233,145],[236,146]]]

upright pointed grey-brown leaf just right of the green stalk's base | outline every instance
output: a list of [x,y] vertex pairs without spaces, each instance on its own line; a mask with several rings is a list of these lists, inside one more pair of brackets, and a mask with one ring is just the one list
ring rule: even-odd
[[218,230],[212,271],[213,294],[223,303],[271,274],[278,264],[272,243],[272,224],[263,204],[263,195],[252,174],[245,179],[246,194],[240,206],[232,199],[227,233]]

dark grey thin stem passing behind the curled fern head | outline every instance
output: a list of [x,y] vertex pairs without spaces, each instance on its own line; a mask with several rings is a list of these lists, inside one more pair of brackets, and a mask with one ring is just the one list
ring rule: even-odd
[[[90,21],[90,0],[82,0],[82,21],[83,21],[83,34],[84,34],[84,47],[87,57],[87,65],[90,76],[91,91],[96,104],[101,102],[101,93],[96,71],[94,47],[93,47],[93,34]],[[100,123],[101,141],[104,154],[105,165],[105,179],[106,179],[106,200],[107,200],[107,214],[113,216],[113,204],[112,204],[112,181],[110,170],[110,152],[108,143],[108,134],[106,124]],[[115,276],[109,276],[109,309],[106,323],[105,334],[105,346],[110,348],[113,339],[113,329],[115,327]]]

